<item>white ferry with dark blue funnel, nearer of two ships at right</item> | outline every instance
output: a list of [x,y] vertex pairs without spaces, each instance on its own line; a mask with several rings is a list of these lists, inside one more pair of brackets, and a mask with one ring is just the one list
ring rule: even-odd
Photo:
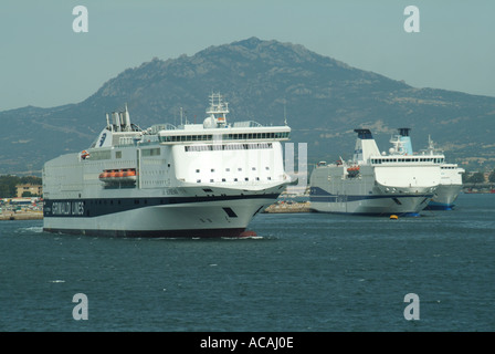
[[392,137],[389,154],[380,153],[369,129],[358,134],[354,157],[335,164],[320,162],[310,176],[315,211],[419,216],[440,184],[442,155],[413,156],[407,140]]

